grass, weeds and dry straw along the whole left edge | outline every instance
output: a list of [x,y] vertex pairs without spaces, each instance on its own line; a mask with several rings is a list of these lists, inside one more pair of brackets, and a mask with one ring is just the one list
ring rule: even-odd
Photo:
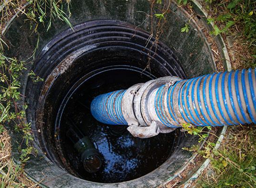
[[[17,12],[22,12],[27,16],[27,20],[32,20],[36,27],[33,32],[37,33],[39,24],[50,29],[52,20],[59,19],[69,25],[68,20],[69,0],[1,0],[0,33],[2,33],[5,24]],[[24,6],[29,4],[29,6]],[[67,4],[67,14],[63,11],[64,4]],[[47,13],[46,13],[46,10]],[[47,25],[46,25],[46,19]],[[29,123],[25,122],[25,109],[27,105],[20,108],[17,103],[21,100],[19,91],[20,82],[18,78],[23,70],[26,70],[25,62],[19,61],[15,57],[6,57],[4,49],[8,48],[4,37],[0,35],[0,186],[1,188],[20,188],[20,187],[38,187],[31,180],[27,179],[23,167],[30,155],[37,153],[32,146],[34,139]],[[34,49],[34,53],[37,48]],[[31,54],[34,57],[34,54]],[[28,76],[34,82],[42,82],[33,71],[29,71]],[[20,143],[20,163],[14,163],[11,157],[10,136],[4,125],[12,123],[15,131],[23,135],[22,145]]]

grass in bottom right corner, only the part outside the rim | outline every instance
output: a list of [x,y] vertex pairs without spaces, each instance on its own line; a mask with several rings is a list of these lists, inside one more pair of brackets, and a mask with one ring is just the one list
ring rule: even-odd
[[218,152],[213,152],[211,168],[198,181],[199,188],[256,187],[255,125],[229,127],[227,138]]

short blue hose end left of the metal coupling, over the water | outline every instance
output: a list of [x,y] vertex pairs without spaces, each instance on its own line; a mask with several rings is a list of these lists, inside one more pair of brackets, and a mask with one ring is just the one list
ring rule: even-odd
[[126,90],[118,90],[94,98],[91,103],[93,117],[109,125],[127,125],[121,108],[125,92]]

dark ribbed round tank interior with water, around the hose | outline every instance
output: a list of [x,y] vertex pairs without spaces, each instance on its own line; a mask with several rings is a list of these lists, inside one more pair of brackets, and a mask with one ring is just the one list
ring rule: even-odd
[[[84,25],[90,27],[90,33]],[[137,179],[170,158],[178,139],[182,139],[179,131],[150,139],[134,138],[126,126],[99,123],[92,117],[90,103],[99,94],[168,75],[185,78],[185,72],[171,49],[161,42],[154,45],[155,39],[148,41],[150,34],[143,30],[137,29],[134,35],[131,25],[94,20],[77,28],[78,32],[64,40],[55,37],[50,42],[54,46],[42,52],[37,62],[58,63],[48,70],[40,94],[42,106],[37,115],[43,124],[39,120],[37,126],[42,130],[42,149],[59,167],[84,180],[117,183]],[[81,37],[83,34],[86,37]],[[69,55],[59,56],[61,52]],[[86,136],[99,152],[102,165],[97,172],[85,170],[82,154],[67,133],[71,127]]]

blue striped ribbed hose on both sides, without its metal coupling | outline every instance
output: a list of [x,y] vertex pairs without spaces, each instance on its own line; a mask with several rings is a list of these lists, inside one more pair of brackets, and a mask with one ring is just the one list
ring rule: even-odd
[[[125,92],[119,90],[95,98],[92,115],[102,123],[127,124],[122,105],[133,104],[122,104]],[[147,95],[152,95],[154,102],[148,101],[146,106],[151,109],[140,114],[145,122],[154,120],[167,127],[181,127],[182,123],[195,126],[256,123],[256,69],[179,80],[160,85]]]

